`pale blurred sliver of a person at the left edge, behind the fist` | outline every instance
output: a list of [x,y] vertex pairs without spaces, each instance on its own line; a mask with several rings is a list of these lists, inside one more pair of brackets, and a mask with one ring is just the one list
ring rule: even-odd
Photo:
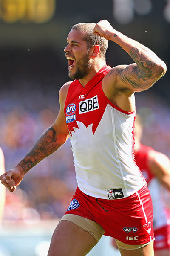
[[[4,160],[2,148],[0,147],[0,175],[2,175],[4,172],[5,172],[5,160]],[[6,199],[6,188],[0,186],[0,223],[3,218],[5,199]]]

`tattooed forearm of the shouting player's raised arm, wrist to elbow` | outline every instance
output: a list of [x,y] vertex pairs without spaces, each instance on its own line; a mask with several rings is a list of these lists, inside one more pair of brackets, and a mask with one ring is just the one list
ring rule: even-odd
[[166,64],[148,47],[118,31],[112,33],[110,40],[119,44],[133,58],[139,69],[136,70],[139,77],[155,77],[157,80],[166,73]]

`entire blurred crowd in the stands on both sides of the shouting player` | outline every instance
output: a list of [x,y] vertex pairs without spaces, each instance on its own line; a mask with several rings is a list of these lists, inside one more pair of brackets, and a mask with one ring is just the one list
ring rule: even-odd
[[[0,146],[6,171],[13,168],[59,111],[58,90],[14,90],[0,95]],[[152,89],[136,93],[136,110],[142,116],[142,143],[170,157],[170,107]],[[0,185],[1,186],[1,185]],[[7,191],[3,220],[38,221],[61,218],[77,187],[71,145],[68,141],[24,177],[14,193]]]

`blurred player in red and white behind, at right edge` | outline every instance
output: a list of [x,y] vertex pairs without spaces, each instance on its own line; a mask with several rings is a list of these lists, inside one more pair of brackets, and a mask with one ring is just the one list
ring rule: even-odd
[[[165,154],[141,143],[142,130],[142,119],[136,115],[135,160],[146,178],[153,202],[154,253],[155,256],[170,256],[170,214],[163,191],[164,188],[170,193],[170,160]],[[113,246],[117,247],[114,240]]]

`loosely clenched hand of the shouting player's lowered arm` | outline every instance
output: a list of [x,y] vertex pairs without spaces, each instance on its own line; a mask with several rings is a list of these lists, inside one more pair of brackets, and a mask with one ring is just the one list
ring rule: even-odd
[[23,173],[15,167],[8,172],[5,172],[3,175],[0,176],[1,183],[6,186],[6,188],[10,192],[14,192],[18,185],[20,185],[21,180],[23,180]]

